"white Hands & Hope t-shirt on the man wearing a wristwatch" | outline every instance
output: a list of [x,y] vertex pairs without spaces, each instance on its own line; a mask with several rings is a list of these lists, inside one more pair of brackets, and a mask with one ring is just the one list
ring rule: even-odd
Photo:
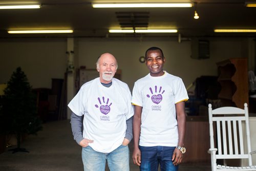
[[139,145],[176,146],[178,127],[175,103],[187,99],[182,79],[167,72],[159,77],[148,74],[137,80],[132,103],[142,106]]

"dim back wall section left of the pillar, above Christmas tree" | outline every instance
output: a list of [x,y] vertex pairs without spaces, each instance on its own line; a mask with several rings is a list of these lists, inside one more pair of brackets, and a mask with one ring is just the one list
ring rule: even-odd
[[2,39],[0,83],[7,83],[21,67],[33,88],[51,88],[52,78],[64,78],[66,50],[66,38]]

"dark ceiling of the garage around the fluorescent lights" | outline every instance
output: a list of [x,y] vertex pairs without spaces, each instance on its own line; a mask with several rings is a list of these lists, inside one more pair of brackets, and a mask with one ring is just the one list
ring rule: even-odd
[[[1,0],[0,4],[39,3],[40,9],[0,10],[0,38],[8,37],[185,37],[239,36],[255,37],[256,33],[214,33],[214,29],[256,29],[256,8],[245,7],[242,0],[198,0],[199,19],[194,19],[192,8],[92,8],[90,0]],[[98,1],[99,2],[99,1]],[[110,2],[110,1],[101,1]],[[117,2],[117,1],[111,1]],[[119,1],[124,2],[124,1]],[[143,2],[143,1],[135,1]],[[173,1],[147,1],[173,2]],[[175,1],[177,2],[177,1]],[[147,12],[148,28],[178,29],[178,33],[108,33],[110,28],[120,28],[116,12]],[[74,29],[71,34],[10,35],[9,29]]]

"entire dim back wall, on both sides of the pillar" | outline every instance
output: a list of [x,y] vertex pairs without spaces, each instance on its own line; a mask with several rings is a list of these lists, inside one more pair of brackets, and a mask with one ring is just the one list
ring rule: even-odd
[[[118,60],[122,80],[130,89],[148,70],[139,57],[157,46],[166,58],[164,70],[181,77],[187,87],[201,75],[217,75],[216,62],[244,56],[248,43],[239,38],[211,38],[210,58],[190,58],[190,41],[180,44],[173,38],[75,38],[75,64],[94,69],[97,57],[110,52]],[[51,88],[52,78],[63,78],[67,59],[66,38],[1,39],[0,83],[6,83],[17,67],[22,67],[33,88]],[[243,54],[242,54],[243,53]]]

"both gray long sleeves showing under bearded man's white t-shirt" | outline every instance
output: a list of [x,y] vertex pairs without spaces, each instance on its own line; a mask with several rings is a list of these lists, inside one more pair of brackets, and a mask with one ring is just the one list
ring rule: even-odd
[[[83,130],[83,125],[82,125],[82,120],[83,116],[78,116],[74,114],[73,112],[71,113],[71,128],[72,128],[72,133],[74,136],[74,140],[79,144],[81,140],[83,140],[82,137],[82,130]],[[133,139],[133,116],[129,119],[126,120],[126,133],[125,137],[128,139],[130,142]]]

